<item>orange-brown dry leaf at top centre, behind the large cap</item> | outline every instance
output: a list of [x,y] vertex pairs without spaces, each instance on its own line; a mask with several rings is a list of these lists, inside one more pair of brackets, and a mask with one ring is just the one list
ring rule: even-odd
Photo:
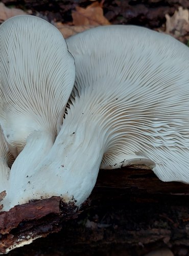
[[94,2],[87,8],[77,6],[76,11],[72,12],[74,25],[109,25],[109,21],[103,15],[102,3]]

